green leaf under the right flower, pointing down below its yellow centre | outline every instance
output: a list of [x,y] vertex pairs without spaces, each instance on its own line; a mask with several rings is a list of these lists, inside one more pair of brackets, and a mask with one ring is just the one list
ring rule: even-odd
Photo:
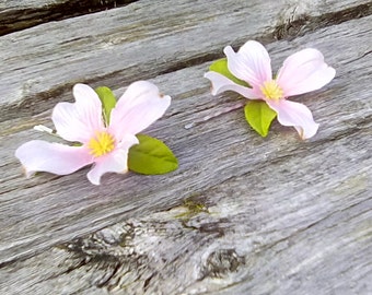
[[244,107],[245,119],[263,138],[266,138],[271,121],[277,117],[264,101],[249,101]]

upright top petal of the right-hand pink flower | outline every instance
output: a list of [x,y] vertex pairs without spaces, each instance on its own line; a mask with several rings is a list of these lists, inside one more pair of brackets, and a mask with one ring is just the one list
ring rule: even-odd
[[235,54],[231,46],[224,48],[230,72],[257,87],[272,79],[271,61],[265,47],[255,40],[245,43]]

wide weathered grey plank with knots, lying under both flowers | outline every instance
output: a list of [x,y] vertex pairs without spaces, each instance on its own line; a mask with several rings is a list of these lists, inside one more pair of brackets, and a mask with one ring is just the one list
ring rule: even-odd
[[[19,292],[34,294],[63,288],[67,294],[102,294],[100,286],[114,294],[120,294],[124,286],[131,294],[370,293],[371,17],[268,46],[276,66],[288,54],[311,45],[324,51],[337,70],[327,91],[302,96],[322,123],[311,142],[300,142],[292,130],[286,134],[287,129],[279,126],[268,139],[260,139],[248,130],[241,111],[185,130],[185,123],[236,97],[210,97],[208,83],[200,80],[207,64],[201,64],[154,80],[175,98],[168,117],[151,130],[179,156],[181,168],[172,177],[129,175],[119,181],[120,176],[109,176],[104,179],[107,187],[92,192],[82,180],[86,170],[61,178],[44,175],[32,181],[11,173],[13,180],[4,182],[14,186],[11,189],[22,186],[24,194],[9,199],[11,208],[2,203],[1,224],[8,228],[1,233],[2,257],[16,257],[14,249],[31,253],[35,247],[68,240],[127,216],[140,216],[140,212],[171,208],[190,197],[206,203],[209,214],[182,221],[179,209],[174,209],[128,220],[98,233],[108,241],[95,241],[96,248],[70,243],[77,255],[72,260],[66,260],[69,252],[55,248],[4,267],[1,278],[13,282],[4,290],[12,292],[16,282]],[[342,50],[336,54],[333,48]],[[23,131],[4,138],[9,165],[15,165],[10,151],[32,135]],[[71,185],[79,182],[79,187]],[[49,193],[43,192],[46,189]],[[132,237],[130,231],[135,231]],[[128,245],[120,247],[117,241],[126,235]],[[25,240],[26,245],[16,245]],[[100,260],[102,252],[118,264]],[[49,264],[48,255],[58,266]],[[35,263],[40,263],[40,270],[51,270],[32,272],[31,278]],[[114,274],[107,279],[109,270]]]

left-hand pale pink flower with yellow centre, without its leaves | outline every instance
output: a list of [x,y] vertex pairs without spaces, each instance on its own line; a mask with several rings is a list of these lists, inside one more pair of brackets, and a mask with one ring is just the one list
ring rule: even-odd
[[139,141],[135,134],[149,127],[165,113],[171,97],[159,93],[158,87],[147,81],[129,85],[112,109],[109,125],[105,126],[102,103],[90,86],[73,86],[75,103],[59,103],[51,119],[57,134],[79,146],[33,140],[15,151],[26,176],[35,172],[57,175],[71,174],[93,164],[88,179],[100,185],[105,173],[126,173],[128,151]]

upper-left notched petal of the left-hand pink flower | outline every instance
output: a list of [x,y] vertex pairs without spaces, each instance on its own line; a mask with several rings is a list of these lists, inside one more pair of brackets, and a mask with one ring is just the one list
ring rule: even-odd
[[84,84],[73,86],[73,96],[74,104],[56,105],[51,119],[60,137],[68,141],[85,143],[95,131],[104,128],[102,104],[94,90]]

